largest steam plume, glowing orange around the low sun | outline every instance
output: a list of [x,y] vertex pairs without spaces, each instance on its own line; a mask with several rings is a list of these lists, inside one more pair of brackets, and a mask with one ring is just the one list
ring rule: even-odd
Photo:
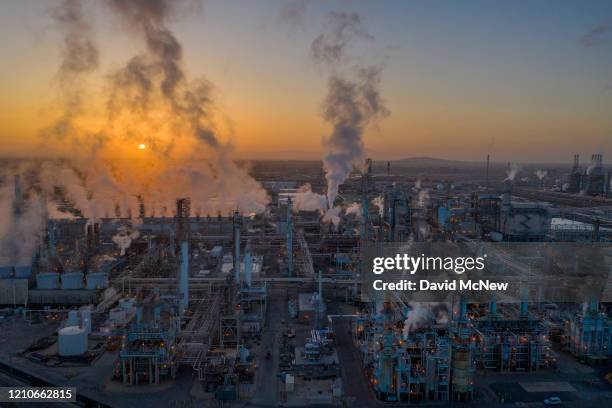
[[[71,162],[43,167],[44,189],[61,187],[84,216],[94,218],[135,215],[137,197],[150,214],[165,214],[183,196],[202,212],[263,211],[265,191],[248,168],[236,165],[231,144],[219,137],[222,114],[214,85],[206,78],[190,80],[184,71],[183,48],[170,23],[188,2],[106,3],[126,32],[143,42],[144,51],[105,76],[106,111],[86,112],[80,103],[86,89],[78,79],[98,66],[91,25],[76,0],[54,12],[65,44],[60,91],[70,98],[62,117],[42,134],[62,153],[68,146]],[[75,119],[87,115],[106,120],[96,127],[78,126]],[[146,150],[136,156],[140,144]]]

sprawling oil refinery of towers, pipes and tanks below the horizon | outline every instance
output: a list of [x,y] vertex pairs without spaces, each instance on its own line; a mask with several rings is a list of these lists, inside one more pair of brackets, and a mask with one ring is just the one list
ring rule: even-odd
[[[36,168],[1,180],[15,225],[32,222]],[[17,256],[23,236],[2,242],[2,385],[74,386],[87,407],[612,404],[609,279],[567,302],[371,299],[363,280],[366,245],[426,242],[597,244],[607,277],[601,155],[533,168],[367,160],[331,209],[312,205],[320,162],[249,172],[263,211],[208,213],[179,196],[162,214],[140,197],[94,218],[69,191],[47,193],[57,210],[32,222],[31,258]]]

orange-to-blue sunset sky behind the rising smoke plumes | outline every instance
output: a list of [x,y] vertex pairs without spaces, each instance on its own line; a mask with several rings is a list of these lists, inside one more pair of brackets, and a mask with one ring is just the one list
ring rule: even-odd
[[[118,29],[102,1],[86,1],[107,73],[144,48]],[[62,36],[52,1],[0,3],[0,154],[40,153],[41,128],[59,114]],[[326,74],[311,43],[332,10],[358,12],[371,39],[351,44],[357,63],[382,64],[390,115],[368,127],[375,159],[434,156],[570,162],[612,158],[612,2],[207,1],[171,29],[190,76],[215,86],[238,158],[317,159]]]

